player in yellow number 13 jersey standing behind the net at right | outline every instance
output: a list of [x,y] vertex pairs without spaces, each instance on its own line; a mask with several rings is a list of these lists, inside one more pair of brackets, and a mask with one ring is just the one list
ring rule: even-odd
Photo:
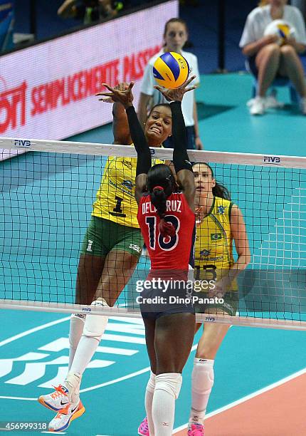
[[[211,305],[206,308],[206,313],[228,313],[235,316],[238,306],[235,276],[250,262],[246,225],[241,210],[231,202],[226,187],[216,182],[211,167],[206,163],[195,163],[193,170],[197,224],[195,279],[217,280],[219,288],[226,288],[224,303]],[[236,261],[233,259],[233,242],[238,254]],[[196,325],[197,330],[200,327],[201,324]],[[213,387],[213,363],[228,328],[228,325],[204,323],[192,371],[189,436],[204,435],[204,417]],[[138,432],[142,436],[151,435],[146,419],[142,421]]]

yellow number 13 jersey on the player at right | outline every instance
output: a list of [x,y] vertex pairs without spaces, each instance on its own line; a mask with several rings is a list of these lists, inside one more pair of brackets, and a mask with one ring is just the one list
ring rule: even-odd
[[[194,265],[199,278],[205,278],[205,271],[208,273],[213,269],[218,279],[222,271],[228,271],[235,262],[231,236],[232,207],[229,200],[214,197],[209,214],[196,226]],[[236,290],[236,281],[232,285],[232,290]]]

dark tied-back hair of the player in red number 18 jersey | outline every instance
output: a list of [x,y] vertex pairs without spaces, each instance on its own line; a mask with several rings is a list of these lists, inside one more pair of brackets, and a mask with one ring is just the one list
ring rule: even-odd
[[159,232],[163,237],[172,237],[175,234],[174,225],[164,219],[167,210],[167,198],[174,192],[175,187],[174,175],[168,165],[157,164],[149,170],[147,189],[151,195],[151,202],[157,209],[160,218]]

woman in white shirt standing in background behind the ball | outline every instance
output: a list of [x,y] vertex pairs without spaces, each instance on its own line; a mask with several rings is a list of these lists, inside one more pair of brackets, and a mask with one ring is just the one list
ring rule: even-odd
[[[149,110],[151,110],[154,105],[164,103],[164,98],[161,93],[159,93],[158,90],[154,89],[154,85],[156,85],[157,83],[155,82],[153,76],[153,65],[158,56],[161,56],[167,51],[175,51],[176,53],[181,53],[181,55],[184,56],[184,58],[186,58],[186,61],[189,63],[191,73],[196,76],[196,83],[193,82],[191,83],[191,85],[199,84],[200,74],[198,59],[194,54],[182,50],[187,39],[188,29],[184,20],[174,18],[167,21],[164,28],[164,47],[161,51],[159,51],[159,53],[157,53],[149,60],[149,63],[147,64],[144,71],[144,77],[142,79],[142,88],[138,104],[138,118],[142,125],[147,120],[147,113],[149,112]],[[183,111],[184,121],[186,125],[188,149],[202,150],[203,145],[199,136],[199,124],[194,90],[191,90],[185,95],[185,98],[181,105],[181,109]],[[169,138],[169,140],[164,142],[164,146],[173,148],[171,137]]]

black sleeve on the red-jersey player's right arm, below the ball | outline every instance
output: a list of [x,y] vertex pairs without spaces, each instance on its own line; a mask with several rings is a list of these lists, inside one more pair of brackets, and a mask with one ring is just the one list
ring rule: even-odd
[[172,138],[174,144],[173,163],[175,172],[180,170],[192,171],[191,163],[187,153],[187,135],[183,113],[181,112],[181,102],[170,103],[172,112]]

